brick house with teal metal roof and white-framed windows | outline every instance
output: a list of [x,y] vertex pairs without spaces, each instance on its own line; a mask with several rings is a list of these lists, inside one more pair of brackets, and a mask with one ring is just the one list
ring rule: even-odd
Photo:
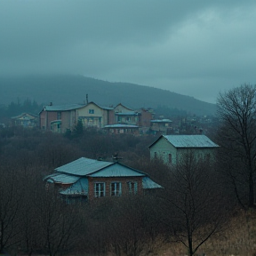
[[162,188],[145,172],[118,162],[85,157],[56,168],[55,172],[44,180],[60,188],[60,195],[73,198],[79,196],[84,200],[142,194],[145,189]]

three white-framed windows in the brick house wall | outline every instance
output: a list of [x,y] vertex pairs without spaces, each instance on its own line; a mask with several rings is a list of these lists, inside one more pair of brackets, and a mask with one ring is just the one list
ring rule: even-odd
[[[126,187],[129,193],[135,195],[138,191],[138,183],[128,181],[126,182]],[[110,183],[110,196],[121,196],[122,195],[122,183],[121,182],[111,182]],[[105,182],[95,182],[94,183],[94,196],[102,197],[106,196],[106,183]]]

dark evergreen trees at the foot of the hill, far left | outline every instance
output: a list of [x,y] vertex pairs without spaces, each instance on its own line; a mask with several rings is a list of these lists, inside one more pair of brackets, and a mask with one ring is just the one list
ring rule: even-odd
[[36,100],[24,100],[20,102],[11,102],[9,105],[0,105],[0,123],[4,123],[4,120],[10,119],[12,116],[19,116],[22,113],[29,113],[38,115],[43,109],[43,104],[38,104]]

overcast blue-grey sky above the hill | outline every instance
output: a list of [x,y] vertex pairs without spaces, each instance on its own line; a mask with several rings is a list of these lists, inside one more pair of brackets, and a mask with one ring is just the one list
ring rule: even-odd
[[1,0],[0,75],[49,72],[214,103],[256,84],[256,1]]

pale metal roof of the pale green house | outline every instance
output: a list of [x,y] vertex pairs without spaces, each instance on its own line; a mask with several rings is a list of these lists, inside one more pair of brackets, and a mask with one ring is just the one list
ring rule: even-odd
[[163,135],[175,148],[217,148],[205,135]]

